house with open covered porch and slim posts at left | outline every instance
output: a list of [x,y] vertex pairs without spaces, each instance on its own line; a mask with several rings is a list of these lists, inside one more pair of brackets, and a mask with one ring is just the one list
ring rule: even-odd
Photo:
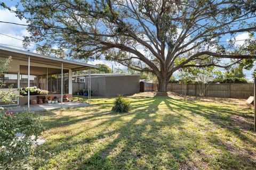
[[[97,68],[91,64],[0,46],[0,60],[5,60],[9,56],[12,57],[12,61],[9,64],[10,69],[0,77],[0,80],[6,84],[1,90],[8,90],[7,87],[10,84],[13,84],[14,89],[36,86],[49,91],[45,97],[61,98],[61,104],[63,95],[67,95],[68,98],[72,97],[72,73]],[[29,107],[30,100],[36,100],[38,96],[40,94],[28,92],[27,96],[14,99],[14,105],[28,105]],[[1,105],[4,103],[0,103]]]

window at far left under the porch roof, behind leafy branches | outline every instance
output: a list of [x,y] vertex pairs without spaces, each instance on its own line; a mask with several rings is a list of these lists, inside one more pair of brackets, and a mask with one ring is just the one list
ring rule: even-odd
[[18,88],[18,73],[5,72],[0,75],[0,83],[4,83],[4,86],[0,86],[1,89],[8,88],[12,85],[12,88]]

